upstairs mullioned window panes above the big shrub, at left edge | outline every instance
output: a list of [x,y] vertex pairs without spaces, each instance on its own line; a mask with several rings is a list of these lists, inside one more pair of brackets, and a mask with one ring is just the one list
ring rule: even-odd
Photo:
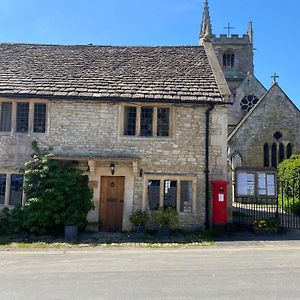
[[46,103],[0,102],[1,132],[46,132]]

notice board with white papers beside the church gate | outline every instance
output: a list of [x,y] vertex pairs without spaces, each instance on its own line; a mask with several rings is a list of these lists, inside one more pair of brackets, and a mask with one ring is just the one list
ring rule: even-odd
[[276,197],[276,170],[273,168],[237,168],[235,194],[236,197]]

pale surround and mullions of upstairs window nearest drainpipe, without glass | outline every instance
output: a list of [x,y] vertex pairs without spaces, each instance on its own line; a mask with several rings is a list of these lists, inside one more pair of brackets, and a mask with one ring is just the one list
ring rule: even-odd
[[[136,107],[136,130],[135,135],[125,135],[124,134],[124,117],[125,117],[125,107]],[[151,136],[141,136],[141,108],[142,107],[152,107],[153,117],[152,117],[152,135]],[[157,112],[158,108],[169,108],[169,135],[168,136],[158,136],[157,135]],[[175,109],[174,106],[169,104],[156,104],[156,103],[122,103],[120,105],[119,111],[119,133],[120,137],[127,139],[171,139],[174,136],[175,128]]]

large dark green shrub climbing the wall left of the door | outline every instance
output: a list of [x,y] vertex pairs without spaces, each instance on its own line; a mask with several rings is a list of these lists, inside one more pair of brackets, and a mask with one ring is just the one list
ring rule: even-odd
[[46,234],[62,232],[64,225],[84,228],[86,216],[94,208],[88,177],[74,164],[51,159],[36,144],[33,148],[35,153],[25,170],[27,201],[10,212],[11,231]]

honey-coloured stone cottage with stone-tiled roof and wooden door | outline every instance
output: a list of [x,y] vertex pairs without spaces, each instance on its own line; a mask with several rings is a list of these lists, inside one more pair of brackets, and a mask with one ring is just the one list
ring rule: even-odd
[[210,222],[227,179],[230,91],[210,42],[195,47],[0,44],[0,206],[24,204],[32,141],[89,176],[101,230],[139,209]]

